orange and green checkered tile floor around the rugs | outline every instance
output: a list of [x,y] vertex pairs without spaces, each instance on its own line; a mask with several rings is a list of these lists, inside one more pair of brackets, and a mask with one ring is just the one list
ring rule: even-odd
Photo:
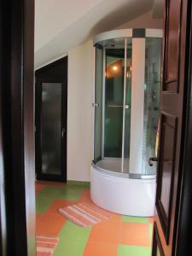
[[54,256],[150,256],[153,219],[113,213],[108,221],[79,227],[58,208],[90,201],[90,189],[62,183],[36,183],[37,236],[57,236]]

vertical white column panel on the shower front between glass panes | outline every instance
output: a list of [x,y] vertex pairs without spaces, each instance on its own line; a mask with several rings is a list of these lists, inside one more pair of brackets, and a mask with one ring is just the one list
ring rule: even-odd
[[132,38],[130,174],[142,173],[145,38]]

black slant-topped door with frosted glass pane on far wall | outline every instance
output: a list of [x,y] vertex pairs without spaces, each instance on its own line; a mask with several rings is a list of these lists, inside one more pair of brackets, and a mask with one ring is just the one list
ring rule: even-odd
[[67,57],[36,71],[36,171],[67,181]]

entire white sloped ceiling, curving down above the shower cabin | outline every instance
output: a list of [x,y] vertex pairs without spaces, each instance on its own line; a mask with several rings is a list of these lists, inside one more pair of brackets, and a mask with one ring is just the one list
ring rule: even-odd
[[36,0],[35,67],[152,9],[153,0]]

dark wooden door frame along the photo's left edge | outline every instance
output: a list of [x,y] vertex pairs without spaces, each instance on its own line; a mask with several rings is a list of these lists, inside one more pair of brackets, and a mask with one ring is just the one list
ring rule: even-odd
[[1,192],[5,195],[7,233],[3,230],[3,237],[7,238],[3,239],[7,250],[3,256],[36,255],[34,0],[1,1],[0,19],[1,184],[5,184]]

